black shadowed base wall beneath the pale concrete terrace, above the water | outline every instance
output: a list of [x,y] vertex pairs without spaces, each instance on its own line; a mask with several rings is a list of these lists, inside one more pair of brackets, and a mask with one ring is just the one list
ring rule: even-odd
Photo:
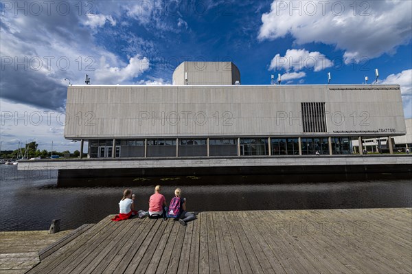
[[59,187],[242,185],[411,179],[411,165],[295,165],[59,170]]

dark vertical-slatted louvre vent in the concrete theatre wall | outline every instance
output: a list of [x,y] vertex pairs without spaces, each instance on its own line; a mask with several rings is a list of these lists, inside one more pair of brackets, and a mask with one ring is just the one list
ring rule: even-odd
[[304,133],[325,133],[325,102],[301,103]]

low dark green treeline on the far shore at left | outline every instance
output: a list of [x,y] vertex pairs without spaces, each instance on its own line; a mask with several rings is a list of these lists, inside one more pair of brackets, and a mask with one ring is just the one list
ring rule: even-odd
[[[51,155],[58,155],[59,157],[66,157],[69,155],[69,157],[79,157],[80,156],[80,151],[76,150],[73,153],[70,153],[69,150],[65,150],[62,152],[58,152],[53,150],[47,151],[47,150],[38,150],[37,149],[38,144],[36,144],[35,141],[30,142],[27,144],[25,148],[21,148],[21,152],[19,149],[16,150],[1,150],[0,151],[0,158],[2,159],[16,159],[17,157],[21,157],[21,155],[26,155],[28,159],[34,158],[34,157],[41,157],[43,158],[49,158]],[[27,154],[25,153],[27,149]]]

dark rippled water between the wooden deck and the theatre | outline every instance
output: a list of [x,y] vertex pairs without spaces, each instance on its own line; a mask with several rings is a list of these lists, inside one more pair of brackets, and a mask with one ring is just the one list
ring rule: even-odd
[[[210,180],[216,178],[211,176]],[[58,188],[56,182],[57,171],[18,171],[16,165],[0,165],[0,231],[49,229],[53,219],[61,219],[61,229],[98,222],[118,212],[125,188]],[[161,180],[154,180],[153,185],[158,182]],[[173,196],[174,184],[174,181],[163,181],[162,193],[167,201]],[[147,210],[154,187],[135,186],[132,189],[137,209]],[[187,209],[196,212],[412,207],[410,180],[189,185],[182,190],[187,198]]]

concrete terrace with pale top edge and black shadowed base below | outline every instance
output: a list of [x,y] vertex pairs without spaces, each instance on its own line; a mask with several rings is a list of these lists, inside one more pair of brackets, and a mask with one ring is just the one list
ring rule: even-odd
[[412,179],[412,155],[198,157],[21,161],[58,170],[58,186],[211,185]]

